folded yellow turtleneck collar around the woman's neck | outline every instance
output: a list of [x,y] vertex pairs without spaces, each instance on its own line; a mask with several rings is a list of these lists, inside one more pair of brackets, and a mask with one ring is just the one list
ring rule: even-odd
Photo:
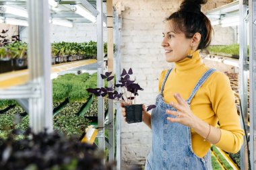
[[201,57],[199,56],[199,50],[196,50],[193,53],[192,58],[186,57],[185,59],[179,62],[174,62],[174,64],[177,72],[191,71],[191,69],[203,65],[203,63],[201,62]]

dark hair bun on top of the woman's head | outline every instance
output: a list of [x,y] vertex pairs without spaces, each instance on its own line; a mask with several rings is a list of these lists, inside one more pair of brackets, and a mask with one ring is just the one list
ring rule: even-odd
[[180,11],[199,13],[201,11],[201,4],[205,3],[207,3],[207,0],[184,0],[181,3]]

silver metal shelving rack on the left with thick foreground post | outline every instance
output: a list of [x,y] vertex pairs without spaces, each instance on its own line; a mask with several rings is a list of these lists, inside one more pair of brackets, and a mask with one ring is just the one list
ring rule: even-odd
[[[67,67],[67,69],[73,70],[97,70],[98,71],[98,87],[104,86],[104,81],[100,78],[100,74],[104,72],[104,60],[103,60],[103,22],[106,22],[106,16],[103,13],[103,3],[102,0],[96,1],[56,1],[60,6],[65,5],[83,5],[96,16],[97,25],[97,62],[93,65],[83,66],[80,64],[72,65]],[[106,2],[106,1],[104,1]],[[30,114],[30,126],[33,132],[42,132],[44,128],[48,129],[48,132],[53,131],[53,110],[52,110],[52,85],[51,85],[51,48],[50,48],[50,34],[49,34],[49,19],[51,18],[61,18],[69,19],[72,22],[89,22],[88,19],[73,13],[73,11],[68,12],[53,12],[53,9],[49,10],[48,1],[39,0],[28,0],[28,1],[13,1],[6,0],[0,1],[0,5],[21,5],[23,7],[28,7],[28,35],[29,35],[29,53],[28,53],[28,65],[29,69],[25,72],[25,77],[23,81],[16,82],[13,84],[5,85],[4,88],[0,86],[0,99],[16,99],[22,108]],[[51,11],[51,13],[50,13]],[[5,19],[6,17],[15,17],[15,15],[0,14],[0,19]],[[24,19],[24,17],[20,17]],[[95,62],[95,61],[94,61]],[[57,66],[58,67],[58,66]],[[53,72],[56,68],[52,68]],[[63,71],[63,68],[60,69]],[[20,75],[16,73],[7,73],[6,75],[16,74],[16,78],[21,78]],[[22,74],[22,75],[24,75]],[[15,76],[14,76],[15,77]],[[2,77],[3,78],[3,77]],[[1,75],[0,75],[1,79]],[[22,78],[21,78],[22,79]],[[20,85],[24,82],[28,83]],[[4,83],[4,81],[2,81]],[[6,82],[5,82],[6,83]],[[10,87],[15,85],[14,87]],[[113,103],[109,102],[110,110],[113,110]],[[108,122],[113,122],[113,112],[108,116]],[[105,148],[105,136],[104,136],[104,102],[103,98],[98,98],[98,148],[104,150]],[[115,159],[115,128],[114,124],[108,124],[106,126],[110,130],[110,138],[108,146],[109,148],[109,160]],[[111,156],[110,156],[111,155]]]

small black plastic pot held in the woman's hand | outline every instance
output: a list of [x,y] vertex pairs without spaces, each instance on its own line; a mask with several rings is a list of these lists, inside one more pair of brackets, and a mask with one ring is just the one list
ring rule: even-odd
[[125,112],[128,124],[142,122],[142,104],[126,105]]

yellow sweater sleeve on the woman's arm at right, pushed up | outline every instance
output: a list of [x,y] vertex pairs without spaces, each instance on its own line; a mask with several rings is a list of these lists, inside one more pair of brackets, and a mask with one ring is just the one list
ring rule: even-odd
[[224,73],[214,73],[210,99],[212,108],[218,116],[221,137],[216,146],[229,153],[237,153],[243,144],[243,129],[237,114],[234,91]]

